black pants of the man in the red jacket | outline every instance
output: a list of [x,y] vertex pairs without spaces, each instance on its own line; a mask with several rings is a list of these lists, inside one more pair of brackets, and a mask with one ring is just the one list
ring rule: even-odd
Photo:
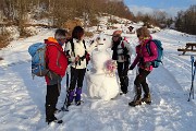
[[56,105],[58,103],[58,97],[60,91],[58,84],[47,85],[47,95],[46,95],[46,119],[52,120],[54,118]]

